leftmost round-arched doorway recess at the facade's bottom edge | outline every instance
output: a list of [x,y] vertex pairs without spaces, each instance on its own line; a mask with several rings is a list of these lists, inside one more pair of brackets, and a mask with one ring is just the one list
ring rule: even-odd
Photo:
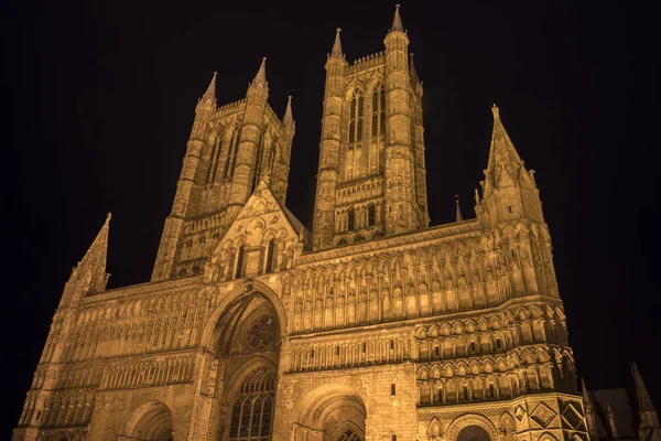
[[120,441],[172,441],[173,420],[170,408],[161,401],[141,406],[124,424]]

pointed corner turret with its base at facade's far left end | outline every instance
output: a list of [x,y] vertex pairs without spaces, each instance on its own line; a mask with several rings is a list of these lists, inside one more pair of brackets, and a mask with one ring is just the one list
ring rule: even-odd
[[59,308],[77,303],[82,297],[106,290],[109,273],[106,272],[108,257],[108,233],[110,230],[110,213],[106,222],[83,257],[83,260],[73,269],[64,287]]

